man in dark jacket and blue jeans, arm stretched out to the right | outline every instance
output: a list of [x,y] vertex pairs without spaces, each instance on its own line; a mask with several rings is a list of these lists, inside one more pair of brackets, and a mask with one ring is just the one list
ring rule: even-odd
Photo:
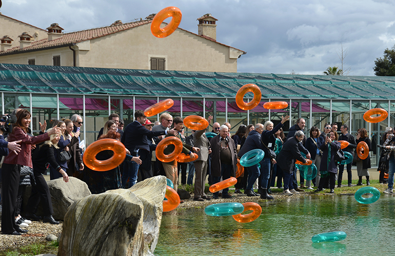
[[[130,151],[133,156],[139,156],[139,150],[144,149],[149,151],[149,141],[147,136],[160,136],[168,132],[171,134],[178,134],[174,129],[168,131],[150,131],[144,127],[147,117],[143,110],[136,110],[134,113],[134,122],[130,123],[122,136],[121,142]],[[124,171],[122,175],[122,184],[125,188],[133,186],[137,181],[137,171],[140,165],[136,162],[125,162]],[[126,184],[129,179],[129,183]]]

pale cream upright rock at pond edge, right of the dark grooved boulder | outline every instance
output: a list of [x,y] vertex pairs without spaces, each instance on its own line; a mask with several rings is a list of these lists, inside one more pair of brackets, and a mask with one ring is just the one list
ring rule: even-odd
[[143,234],[144,253],[155,250],[161,227],[163,199],[166,192],[166,177],[154,176],[153,178],[136,183],[129,188],[144,205]]

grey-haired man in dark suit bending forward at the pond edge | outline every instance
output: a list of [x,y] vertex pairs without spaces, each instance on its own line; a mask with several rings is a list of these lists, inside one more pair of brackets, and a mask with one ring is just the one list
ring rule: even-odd
[[296,131],[295,136],[290,137],[284,143],[283,148],[281,149],[279,155],[276,158],[277,164],[283,170],[284,175],[284,192],[283,194],[292,195],[289,191],[289,188],[292,188],[292,173],[293,168],[295,166],[295,159],[301,161],[302,163],[306,163],[305,158],[302,156],[299,148],[304,139],[303,131]]

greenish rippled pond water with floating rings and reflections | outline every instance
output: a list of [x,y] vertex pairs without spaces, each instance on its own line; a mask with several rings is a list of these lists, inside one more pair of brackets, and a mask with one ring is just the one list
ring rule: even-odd
[[[168,255],[386,255],[392,254],[395,198],[373,204],[352,195],[311,195],[261,202],[261,216],[238,223],[204,208],[165,212],[154,254]],[[344,231],[339,242],[313,244],[314,234]]]

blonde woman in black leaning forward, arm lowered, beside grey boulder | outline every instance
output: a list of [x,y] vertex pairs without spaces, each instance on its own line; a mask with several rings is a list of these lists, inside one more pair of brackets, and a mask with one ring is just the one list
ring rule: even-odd
[[[49,132],[50,128],[47,130]],[[62,176],[65,182],[69,182],[69,176],[66,171],[59,166],[55,160],[55,150],[57,150],[57,142],[61,139],[60,135],[52,134],[50,136],[49,141],[44,142],[44,144],[37,146],[37,148],[33,151],[32,154],[32,162],[33,162],[33,175],[35,179],[35,185],[32,184],[32,192],[27,204],[26,218],[38,221],[42,218],[35,215],[35,211],[37,210],[37,206],[41,200],[43,200],[43,211],[44,218],[43,222],[49,222],[50,224],[59,224],[59,222],[53,219],[53,208],[52,208],[52,200],[51,194],[49,192],[49,188],[47,185],[47,181],[45,180],[43,173],[47,171],[48,164],[50,164],[56,171],[58,171]]]

